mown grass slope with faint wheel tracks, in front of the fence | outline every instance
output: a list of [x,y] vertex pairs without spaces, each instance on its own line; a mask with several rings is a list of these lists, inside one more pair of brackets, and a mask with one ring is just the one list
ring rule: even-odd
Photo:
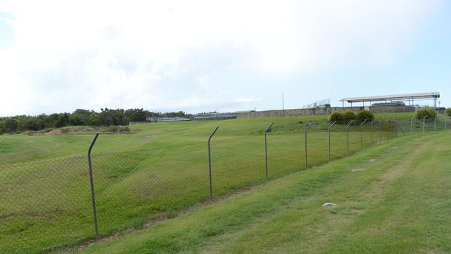
[[450,135],[395,139],[84,252],[449,253]]

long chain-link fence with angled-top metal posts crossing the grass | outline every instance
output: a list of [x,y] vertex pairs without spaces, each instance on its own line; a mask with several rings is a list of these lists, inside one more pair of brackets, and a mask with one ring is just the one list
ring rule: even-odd
[[77,246],[409,135],[410,125],[422,132],[418,121],[395,119],[299,125],[275,123],[258,135],[219,129],[209,142],[98,153],[90,156],[92,174],[85,156],[0,165],[0,253]]

